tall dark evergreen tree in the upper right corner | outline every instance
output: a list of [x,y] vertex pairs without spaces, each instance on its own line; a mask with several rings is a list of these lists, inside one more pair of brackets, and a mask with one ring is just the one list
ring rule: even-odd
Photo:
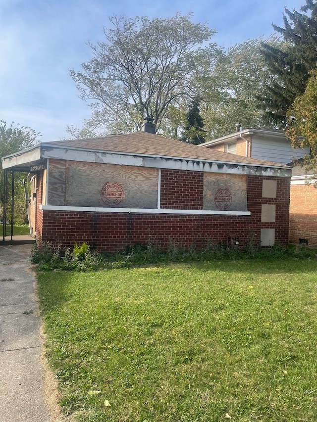
[[262,44],[262,54],[273,79],[262,95],[267,124],[286,126],[287,109],[305,91],[309,71],[316,67],[317,2],[306,0],[301,12],[284,9],[284,27],[273,25],[284,42]]

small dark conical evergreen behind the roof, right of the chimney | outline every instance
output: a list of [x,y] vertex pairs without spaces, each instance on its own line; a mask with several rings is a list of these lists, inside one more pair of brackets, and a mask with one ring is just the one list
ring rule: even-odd
[[204,120],[199,111],[199,98],[191,101],[190,108],[185,115],[186,125],[181,137],[182,142],[199,145],[205,142]]

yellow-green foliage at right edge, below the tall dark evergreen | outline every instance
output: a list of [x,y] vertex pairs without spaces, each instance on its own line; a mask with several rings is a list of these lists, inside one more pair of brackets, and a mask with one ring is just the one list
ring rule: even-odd
[[310,146],[311,154],[304,157],[307,171],[317,173],[317,70],[309,73],[309,80],[288,110],[286,136],[293,147]]

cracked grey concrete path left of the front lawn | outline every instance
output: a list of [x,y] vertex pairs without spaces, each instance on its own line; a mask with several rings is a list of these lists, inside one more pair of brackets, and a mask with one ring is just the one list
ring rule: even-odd
[[[31,244],[0,246],[0,422],[51,422]],[[56,415],[55,415],[56,416]]]

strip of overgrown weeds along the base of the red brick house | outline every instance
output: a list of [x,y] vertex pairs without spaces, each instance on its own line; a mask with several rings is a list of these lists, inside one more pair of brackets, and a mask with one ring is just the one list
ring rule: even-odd
[[215,260],[289,260],[316,259],[316,250],[304,245],[275,244],[270,248],[260,248],[254,243],[244,250],[236,246],[209,241],[197,250],[194,247],[185,248],[174,239],[169,239],[168,248],[162,251],[151,241],[147,244],[135,243],[115,254],[99,254],[92,252],[87,243],[70,248],[64,248],[60,243],[39,242],[31,252],[33,264],[39,264],[40,270],[72,270],[88,271],[97,268],[127,268],[140,265],[167,264],[169,262],[211,262]]

